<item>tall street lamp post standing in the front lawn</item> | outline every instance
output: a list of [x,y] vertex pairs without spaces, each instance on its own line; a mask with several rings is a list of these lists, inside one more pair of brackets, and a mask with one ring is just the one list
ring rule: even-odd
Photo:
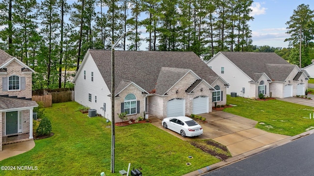
[[[125,32],[116,42],[118,42],[122,39],[123,36],[131,33],[132,31]],[[115,145],[115,119],[114,119],[114,97],[115,97],[115,80],[114,80],[114,47],[116,46],[114,42],[111,40],[111,165],[110,165],[110,171],[111,173],[114,173],[114,145]]]

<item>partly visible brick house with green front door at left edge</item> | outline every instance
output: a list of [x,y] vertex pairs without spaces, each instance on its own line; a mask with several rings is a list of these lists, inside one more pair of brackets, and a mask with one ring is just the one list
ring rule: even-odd
[[33,138],[32,70],[0,49],[0,151],[10,136]]

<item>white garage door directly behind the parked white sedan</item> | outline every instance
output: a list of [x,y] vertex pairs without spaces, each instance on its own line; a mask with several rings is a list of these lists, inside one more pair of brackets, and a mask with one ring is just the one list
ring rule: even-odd
[[174,98],[167,102],[167,117],[184,116],[184,99]]

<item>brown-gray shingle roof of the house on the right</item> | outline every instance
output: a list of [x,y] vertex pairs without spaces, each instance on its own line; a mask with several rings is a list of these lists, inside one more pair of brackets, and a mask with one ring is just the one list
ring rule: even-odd
[[272,52],[221,52],[255,82],[259,79],[256,72],[264,72],[271,80],[284,81],[295,65]]

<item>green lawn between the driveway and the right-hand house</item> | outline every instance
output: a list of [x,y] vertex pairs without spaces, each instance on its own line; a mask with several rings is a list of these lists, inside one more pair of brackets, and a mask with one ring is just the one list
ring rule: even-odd
[[256,120],[256,128],[266,132],[292,136],[314,129],[314,107],[280,100],[257,101],[230,95],[227,95],[227,104],[236,106],[224,111]]

